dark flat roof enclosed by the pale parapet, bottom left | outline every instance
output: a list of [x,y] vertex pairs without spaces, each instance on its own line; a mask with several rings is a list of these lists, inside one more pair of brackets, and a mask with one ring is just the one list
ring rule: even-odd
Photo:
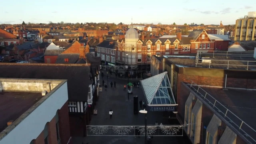
[[36,92],[0,92],[0,132],[42,98]]

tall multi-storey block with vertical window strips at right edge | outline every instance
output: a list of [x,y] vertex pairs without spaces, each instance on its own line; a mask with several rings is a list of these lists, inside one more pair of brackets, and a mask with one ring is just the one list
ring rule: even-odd
[[236,20],[234,41],[256,40],[256,12]]

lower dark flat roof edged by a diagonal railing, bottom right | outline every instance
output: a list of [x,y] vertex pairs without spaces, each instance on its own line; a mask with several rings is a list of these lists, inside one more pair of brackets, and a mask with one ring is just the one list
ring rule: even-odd
[[[190,84],[188,84],[190,87]],[[229,88],[190,87],[202,100],[218,112],[227,124],[239,132],[250,143],[256,142],[256,90]],[[198,90],[198,91],[197,91]],[[205,98],[204,98],[205,97]]]

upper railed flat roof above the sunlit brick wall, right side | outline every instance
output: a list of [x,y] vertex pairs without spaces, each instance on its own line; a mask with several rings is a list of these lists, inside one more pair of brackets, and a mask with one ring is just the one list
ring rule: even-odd
[[[184,55],[171,55],[164,56],[167,60],[173,62],[178,67],[200,67],[200,68],[218,68],[218,69],[233,69],[233,70],[246,70],[248,65],[248,70],[256,70],[256,59],[250,56],[251,53],[246,53],[247,55],[240,56],[236,55],[226,55],[212,53],[202,53],[199,56],[199,61],[196,62],[196,54],[184,54]],[[253,53],[252,53],[253,54]],[[203,63],[200,61],[201,57],[209,57],[211,63]]]

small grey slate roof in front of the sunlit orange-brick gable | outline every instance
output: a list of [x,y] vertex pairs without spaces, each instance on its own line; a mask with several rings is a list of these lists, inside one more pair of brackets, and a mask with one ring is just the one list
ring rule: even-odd
[[[59,54],[55,64],[75,64],[79,59],[80,54]],[[68,58],[68,62],[65,62]]]

